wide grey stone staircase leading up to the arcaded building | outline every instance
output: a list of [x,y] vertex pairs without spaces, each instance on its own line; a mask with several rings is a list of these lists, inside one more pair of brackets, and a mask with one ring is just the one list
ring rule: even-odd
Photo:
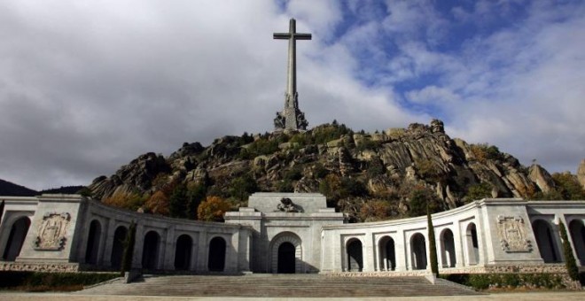
[[320,274],[247,274],[243,276],[147,276],[107,282],[76,292],[82,295],[198,297],[402,297],[478,295],[472,289],[425,277],[339,277]]

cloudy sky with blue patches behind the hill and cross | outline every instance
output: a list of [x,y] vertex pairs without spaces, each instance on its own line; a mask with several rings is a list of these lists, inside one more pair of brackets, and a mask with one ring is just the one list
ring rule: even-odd
[[288,19],[309,127],[445,122],[550,172],[585,158],[585,2],[0,1],[0,179],[89,184],[272,130]]

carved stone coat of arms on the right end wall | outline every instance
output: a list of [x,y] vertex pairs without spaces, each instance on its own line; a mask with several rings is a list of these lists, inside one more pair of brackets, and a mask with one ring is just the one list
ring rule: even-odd
[[503,251],[532,251],[532,243],[527,239],[527,228],[521,217],[499,215],[497,229]]

